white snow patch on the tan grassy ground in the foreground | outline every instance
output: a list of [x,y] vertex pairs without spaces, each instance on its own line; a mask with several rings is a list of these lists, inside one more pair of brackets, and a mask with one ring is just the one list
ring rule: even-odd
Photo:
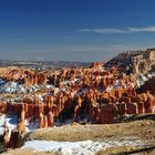
[[117,141],[82,141],[82,142],[54,142],[54,141],[29,141],[22,148],[33,148],[34,152],[54,152],[60,155],[94,155],[99,151],[117,146],[142,146],[143,143],[136,137],[123,137]]

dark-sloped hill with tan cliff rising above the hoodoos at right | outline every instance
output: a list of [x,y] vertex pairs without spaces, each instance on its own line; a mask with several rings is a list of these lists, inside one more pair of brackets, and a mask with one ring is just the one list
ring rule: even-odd
[[108,61],[105,66],[120,66],[127,74],[145,74],[155,66],[155,49],[120,53],[117,56]]

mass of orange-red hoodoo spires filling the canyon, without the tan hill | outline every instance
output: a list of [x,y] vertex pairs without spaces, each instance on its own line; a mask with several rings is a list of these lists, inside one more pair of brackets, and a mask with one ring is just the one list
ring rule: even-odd
[[[9,81],[24,79],[24,86],[39,84],[43,87],[35,94],[30,93],[31,91],[29,94],[20,94],[21,100],[18,102],[0,104],[0,113],[21,114],[19,133],[24,131],[23,124],[28,117],[31,117],[31,121],[39,118],[40,127],[53,126],[54,117],[62,116],[66,111],[72,113],[73,121],[76,121],[83,113],[81,110],[89,108],[90,120],[96,123],[112,123],[117,115],[155,113],[155,97],[149,93],[137,94],[134,79],[123,74],[118,68],[64,69],[45,73],[6,68],[0,69],[0,78]],[[56,89],[45,89],[45,82]],[[121,84],[117,85],[117,82]],[[154,85],[149,86],[147,85],[147,90],[152,90]]]

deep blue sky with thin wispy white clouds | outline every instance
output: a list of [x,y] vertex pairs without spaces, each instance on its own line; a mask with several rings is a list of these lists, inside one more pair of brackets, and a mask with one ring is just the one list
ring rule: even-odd
[[155,0],[1,0],[0,59],[107,61],[155,48]]

